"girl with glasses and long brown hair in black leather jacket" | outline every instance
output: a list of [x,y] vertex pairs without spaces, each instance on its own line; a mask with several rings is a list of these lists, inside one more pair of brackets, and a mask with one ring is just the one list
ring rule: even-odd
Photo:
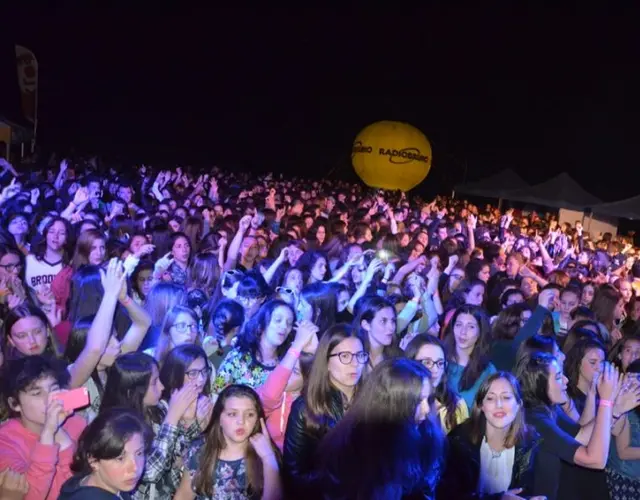
[[318,472],[314,457],[318,444],[351,405],[368,362],[362,340],[349,325],[335,325],[322,336],[285,433],[284,478],[291,498],[308,493]]

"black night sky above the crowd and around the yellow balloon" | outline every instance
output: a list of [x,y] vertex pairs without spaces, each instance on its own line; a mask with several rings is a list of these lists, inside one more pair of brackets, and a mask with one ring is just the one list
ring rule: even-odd
[[48,9],[16,16],[2,42],[4,54],[21,43],[39,59],[45,146],[321,175],[348,168],[363,126],[402,120],[432,140],[432,187],[460,181],[467,162],[468,179],[566,170],[609,200],[640,191],[638,20]]

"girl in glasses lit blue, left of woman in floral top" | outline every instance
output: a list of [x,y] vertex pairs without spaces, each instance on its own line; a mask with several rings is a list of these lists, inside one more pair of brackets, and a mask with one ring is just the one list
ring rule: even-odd
[[155,348],[147,349],[145,352],[153,356],[158,364],[162,366],[167,353],[174,347],[183,344],[200,345],[199,324],[198,315],[193,309],[183,305],[173,306],[164,318],[158,345]]

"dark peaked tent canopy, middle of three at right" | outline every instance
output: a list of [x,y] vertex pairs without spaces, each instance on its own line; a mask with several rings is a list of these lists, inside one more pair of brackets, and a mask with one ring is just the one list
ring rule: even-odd
[[585,210],[602,204],[602,200],[585,191],[566,172],[558,174],[541,184],[504,193],[503,198],[511,201],[571,210]]

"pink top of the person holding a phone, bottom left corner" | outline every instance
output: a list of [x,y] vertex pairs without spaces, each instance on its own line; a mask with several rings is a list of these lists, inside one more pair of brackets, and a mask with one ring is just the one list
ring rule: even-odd
[[59,445],[41,444],[40,436],[12,418],[0,425],[0,470],[7,468],[26,475],[29,492],[24,500],[56,500],[62,484],[69,479],[75,443],[87,426],[82,417],[73,415],[62,426],[74,442],[58,452]]

